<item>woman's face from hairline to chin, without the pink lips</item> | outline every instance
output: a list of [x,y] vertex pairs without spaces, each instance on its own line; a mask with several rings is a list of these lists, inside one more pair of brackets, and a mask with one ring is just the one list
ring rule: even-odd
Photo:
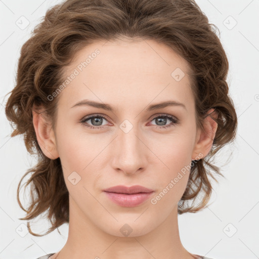
[[[55,132],[70,218],[115,236],[127,224],[138,236],[176,215],[198,155],[187,71],[184,59],[153,40],[98,41],[77,53],[65,69],[75,76],[59,94]],[[76,105],[86,100],[101,105]],[[154,106],[163,102],[179,104]],[[123,206],[103,191],[117,185],[153,192]]]

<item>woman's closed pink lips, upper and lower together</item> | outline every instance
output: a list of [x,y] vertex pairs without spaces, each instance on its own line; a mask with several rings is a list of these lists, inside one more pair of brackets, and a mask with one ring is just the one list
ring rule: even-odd
[[104,192],[109,199],[122,207],[135,207],[147,200],[154,191],[140,185],[131,187],[118,185]]

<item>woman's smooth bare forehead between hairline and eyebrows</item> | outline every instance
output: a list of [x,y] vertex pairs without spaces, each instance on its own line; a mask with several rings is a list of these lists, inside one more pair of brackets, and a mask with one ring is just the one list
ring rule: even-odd
[[64,69],[66,76],[76,76],[62,91],[60,102],[71,107],[84,98],[107,103],[123,99],[130,105],[165,100],[168,95],[190,102],[188,71],[185,59],[154,40],[100,40],[81,49]]

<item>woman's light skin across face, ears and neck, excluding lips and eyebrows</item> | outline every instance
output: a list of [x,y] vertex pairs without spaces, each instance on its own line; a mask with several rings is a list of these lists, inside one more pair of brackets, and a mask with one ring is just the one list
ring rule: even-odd
[[[205,131],[196,127],[188,64],[153,40],[96,41],[78,52],[66,75],[96,49],[100,54],[60,93],[55,133],[33,111],[39,145],[49,158],[60,157],[69,191],[68,239],[52,258],[57,254],[57,259],[195,258],[181,243],[177,213],[190,171],[182,173],[183,177],[156,204],[151,198],[191,165],[192,159],[208,154],[217,122],[207,116]],[[185,73],[180,81],[171,76],[176,68]],[[71,108],[84,99],[109,104],[114,110]],[[185,108],[146,110],[149,105],[171,100]],[[164,114],[179,123],[164,119]],[[80,123],[87,115],[106,118]],[[125,119],[132,125],[127,133],[120,127]],[[101,129],[86,126],[100,124]],[[171,126],[162,128],[165,124]],[[124,124],[126,128],[129,125]],[[81,177],[76,185],[69,181],[73,171]],[[136,207],[122,207],[103,192],[116,185],[142,185],[154,193]],[[125,224],[132,230],[128,236],[120,231]]]

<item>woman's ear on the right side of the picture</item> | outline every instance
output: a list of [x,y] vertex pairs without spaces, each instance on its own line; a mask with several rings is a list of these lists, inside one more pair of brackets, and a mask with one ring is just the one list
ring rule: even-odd
[[203,120],[204,131],[199,129],[196,134],[195,146],[192,153],[192,160],[204,158],[210,151],[213,140],[218,128],[218,123],[214,119],[218,118],[218,113],[211,108],[207,112],[206,118]]

